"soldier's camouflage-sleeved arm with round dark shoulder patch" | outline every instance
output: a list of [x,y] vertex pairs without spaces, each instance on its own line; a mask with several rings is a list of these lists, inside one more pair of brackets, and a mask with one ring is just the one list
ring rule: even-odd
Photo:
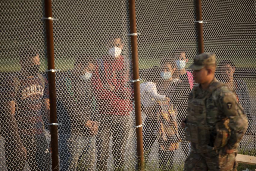
[[232,91],[223,92],[220,98],[223,115],[229,119],[230,138],[226,148],[236,149],[239,141],[245,134],[248,121],[243,113],[242,107],[236,100],[236,95]]

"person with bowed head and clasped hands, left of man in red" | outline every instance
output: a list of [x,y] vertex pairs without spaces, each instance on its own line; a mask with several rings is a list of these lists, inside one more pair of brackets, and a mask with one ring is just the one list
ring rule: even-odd
[[[59,128],[59,156],[61,170],[77,170],[79,158],[85,155],[81,170],[93,170],[90,138],[97,134],[91,77],[94,62],[80,55],[74,68],[66,75],[57,75],[57,113]],[[65,98],[63,98],[65,96]]]

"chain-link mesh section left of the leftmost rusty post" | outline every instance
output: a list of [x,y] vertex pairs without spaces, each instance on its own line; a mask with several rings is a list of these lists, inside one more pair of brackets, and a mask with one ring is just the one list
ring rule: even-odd
[[[41,1],[1,1],[0,170],[50,170]],[[40,64],[41,63],[41,64]]]

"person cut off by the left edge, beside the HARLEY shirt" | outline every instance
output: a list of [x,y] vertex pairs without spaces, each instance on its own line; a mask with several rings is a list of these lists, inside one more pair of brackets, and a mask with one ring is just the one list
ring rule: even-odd
[[27,151],[23,146],[15,119],[14,78],[8,74],[0,82],[0,129],[5,140],[5,158],[8,170],[23,170]]

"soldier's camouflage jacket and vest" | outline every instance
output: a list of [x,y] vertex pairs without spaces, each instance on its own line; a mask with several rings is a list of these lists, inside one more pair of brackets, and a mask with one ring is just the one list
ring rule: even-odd
[[237,151],[248,121],[236,95],[223,83],[214,79],[207,90],[195,85],[189,95],[186,139],[192,152],[207,153],[224,147]]

